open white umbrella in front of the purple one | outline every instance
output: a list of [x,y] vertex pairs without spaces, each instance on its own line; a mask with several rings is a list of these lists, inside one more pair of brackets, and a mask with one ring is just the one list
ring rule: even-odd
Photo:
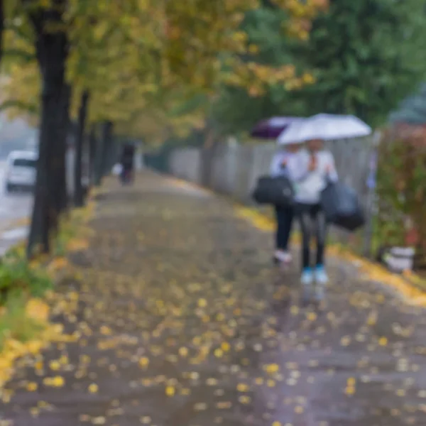
[[312,139],[332,141],[336,139],[361,138],[371,134],[371,127],[356,116],[317,114],[303,121],[291,123],[278,136],[279,145],[303,143]]

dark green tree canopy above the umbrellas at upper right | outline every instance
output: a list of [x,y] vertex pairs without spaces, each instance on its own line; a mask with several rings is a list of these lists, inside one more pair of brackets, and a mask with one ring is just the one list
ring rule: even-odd
[[226,88],[215,106],[218,121],[225,131],[244,131],[267,116],[324,111],[381,124],[425,75],[425,15],[422,0],[333,0],[313,22],[308,43],[301,43],[277,33],[283,12],[269,6],[251,11],[244,25],[259,57],[310,70],[317,81],[276,85],[259,99]]

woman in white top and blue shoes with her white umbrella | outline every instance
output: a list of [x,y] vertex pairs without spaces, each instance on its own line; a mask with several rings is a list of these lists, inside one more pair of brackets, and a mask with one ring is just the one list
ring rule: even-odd
[[[324,149],[324,140],[366,136],[371,129],[354,116],[332,116],[319,114],[300,123],[290,124],[278,137],[278,143],[306,143],[307,149],[300,150],[287,162],[288,177],[295,185],[295,214],[302,231],[302,276],[303,297],[310,299],[315,282],[317,300],[324,297],[328,281],[324,252],[327,240],[327,220],[321,207],[321,193],[328,182],[338,179],[334,158]],[[317,253],[312,263],[310,240],[312,222],[315,224]]]

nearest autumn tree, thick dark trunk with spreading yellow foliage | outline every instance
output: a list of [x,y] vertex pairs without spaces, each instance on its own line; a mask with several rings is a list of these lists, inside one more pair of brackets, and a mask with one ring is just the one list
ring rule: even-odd
[[[273,3],[288,13],[283,31],[300,38],[306,38],[312,18],[327,7],[324,0]],[[50,231],[66,207],[70,112],[80,117],[79,144],[86,122],[104,124],[97,151],[105,158],[114,126],[136,123],[154,101],[159,111],[167,108],[177,88],[211,97],[226,82],[256,95],[270,84],[300,78],[289,64],[256,62],[256,45],[241,22],[258,8],[257,0],[196,0],[183,6],[154,0],[11,4],[13,31],[25,33],[40,70],[39,160],[28,256],[38,244],[49,250]]]

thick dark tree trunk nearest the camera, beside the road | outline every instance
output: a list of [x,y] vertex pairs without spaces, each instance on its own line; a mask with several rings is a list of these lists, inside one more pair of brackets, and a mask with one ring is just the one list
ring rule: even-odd
[[[64,110],[67,106],[66,99],[70,95],[70,88],[65,84],[67,36],[65,33],[46,31],[47,18],[44,15],[35,12],[30,18],[35,31],[35,50],[40,65],[42,91],[39,157],[27,246],[28,258],[33,256],[38,244],[44,253],[50,250],[50,231],[58,225],[60,206],[64,203],[62,197],[67,132],[67,127],[64,127]],[[49,22],[62,23],[62,13],[52,11]]]

